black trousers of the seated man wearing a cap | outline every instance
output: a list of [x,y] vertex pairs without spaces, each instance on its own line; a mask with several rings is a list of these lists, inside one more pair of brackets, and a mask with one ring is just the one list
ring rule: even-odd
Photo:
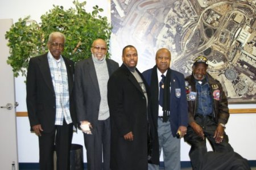
[[[233,151],[232,146],[230,146],[228,135],[224,132],[224,138],[221,143],[216,143],[214,137],[214,132],[217,128],[217,124],[211,116],[196,116],[195,121],[199,124],[203,130],[205,138],[210,142],[214,152],[230,152]],[[188,126],[187,135],[185,135],[184,140],[191,145],[189,151],[189,158],[191,159],[193,169],[200,169],[201,163],[203,162],[205,154],[207,154],[206,139],[199,137],[195,131]]]

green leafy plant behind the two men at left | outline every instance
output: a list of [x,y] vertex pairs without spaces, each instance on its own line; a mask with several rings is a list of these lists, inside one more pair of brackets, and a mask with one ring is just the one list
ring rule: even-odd
[[73,1],[73,4],[75,8],[68,10],[53,5],[52,10],[41,16],[42,23],[36,23],[30,16],[19,19],[6,32],[10,47],[7,63],[13,67],[15,77],[20,73],[26,76],[29,59],[47,52],[48,36],[53,31],[64,33],[63,55],[75,62],[91,56],[90,46],[97,38],[106,40],[109,46],[112,27],[106,17],[99,15],[103,9],[96,5],[88,13],[84,9],[86,1]]

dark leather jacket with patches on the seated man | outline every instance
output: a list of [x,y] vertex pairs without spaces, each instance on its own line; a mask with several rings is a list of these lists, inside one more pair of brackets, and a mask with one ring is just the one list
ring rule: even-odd
[[[226,124],[229,119],[229,108],[228,108],[228,99],[222,89],[221,83],[214,79],[207,73],[209,85],[210,85],[210,95],[213,97],[213,116],[216,124]],[[185,85],[187,89],[187,99],[188,99],[188,124],[191,125],[195,121],[195,112],[196,112],[196,99],[189,100],[189,92],[196,92],[195,87],[195,78],[192,75],[189,75],[185,78]]]

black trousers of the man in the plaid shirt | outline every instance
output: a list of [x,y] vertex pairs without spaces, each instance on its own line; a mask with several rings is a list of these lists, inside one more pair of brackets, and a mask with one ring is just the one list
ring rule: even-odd
[[53,152],[56,150],[57,170],[70,169],[70,148],[73,137],[73,124],[56,125],[49,133],[41,132],[39,137],[40,170],[53,170]]

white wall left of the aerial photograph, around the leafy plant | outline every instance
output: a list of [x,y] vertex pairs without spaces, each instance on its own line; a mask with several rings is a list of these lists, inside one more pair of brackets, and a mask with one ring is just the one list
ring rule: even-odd
[[[28,15],[31,19],[41,22],[40,16],[45,14],[48,10],[53,8],[53,5],[63,6],[65,9],[73,7],[74,0],[9,0],[0,1],[0,18],[12,18],[13,22],[17,22],[19,18],[24,18]],[[83,2],[79,0],[79,2]],[[110,6],[109,0],[87,0],[86,11],[90,12],[93,10],[93,6],[98,5],[104,9],[100,15],[107,16],[110,18]],[[15,78],[15,97],[18,101],[19,106],[16,107],[17,112],[26,112],[26,86],[24,84],[24,77]],[[30,133],[30,124],[28,117],[17,117],[17,135],[18,135],[18,159],[22,163],[33,163],[39,161],[39,148],[38,148],[38,137],[35,134]],[[84,139],[81,131],[74,133],[73,143],[81,144],[84,146]],[[86,162],[85,148],[84,148],[84,161]]]

